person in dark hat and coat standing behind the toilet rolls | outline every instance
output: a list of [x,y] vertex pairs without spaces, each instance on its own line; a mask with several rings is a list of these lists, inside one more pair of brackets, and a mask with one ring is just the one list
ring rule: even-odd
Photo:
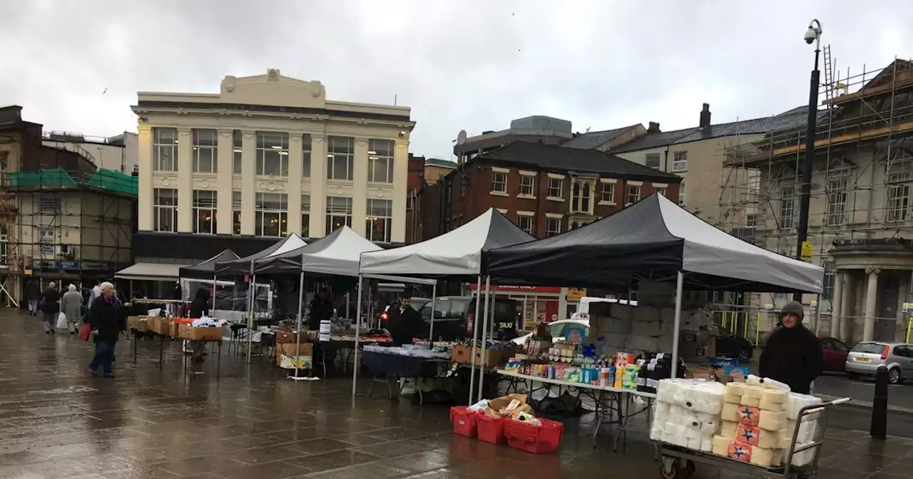
[[824,370],[824,350],[814,333],[803,326],[802,303],[792,301],[780,312],[782,328],[771,333],[761,352],[760,374],[785,382],[793,392],[809,394],[812,381]]

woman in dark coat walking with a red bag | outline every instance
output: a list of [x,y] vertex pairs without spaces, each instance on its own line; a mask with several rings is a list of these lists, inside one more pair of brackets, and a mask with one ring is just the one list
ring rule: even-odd
[[114,285],[109,282],[101,283],[99,290],[100,296],[95,298],[86,313],[86,322],[95,341],[95,356],[89,361],[89,372],[98,376],[101,367],[105,378],[114,378],[114,349],[124,328],[121,301],[114,293]]

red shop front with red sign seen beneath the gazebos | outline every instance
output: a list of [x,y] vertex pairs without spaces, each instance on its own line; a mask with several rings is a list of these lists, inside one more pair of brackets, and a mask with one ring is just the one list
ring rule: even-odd
[[[477,296],[475,284],[464,285],[469,294]],[[520,328],[531,331],[539,323],[551,323],[559,319],[570,318],[573,311],[577,310],[577,303],[585,296],[585,290],[574,290],[560,286],[491,286],[494,297],[502,297],[517,301],[517,307],[522,313],[523,324]],[[482,285],[485,292],[485,285]]]

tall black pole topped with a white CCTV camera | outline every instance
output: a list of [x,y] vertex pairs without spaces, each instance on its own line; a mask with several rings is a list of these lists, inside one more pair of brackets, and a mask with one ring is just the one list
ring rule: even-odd
[[[821,22],[812,20],[805,32],[805,43],[814,43],[814,69],[808,90],[808,123],[805,126],[805,158],[802,164],[802,185],[799,197],[799,226],[796,228],[796,259],[802,260],[802,246],[808,238],[808,208],[812,199],[812,164],[814,159],[814,132],[818,121],[818,86],[821,72],[818,71],[818,55],[821,53]],[[802,293],[795,293],[792,299],[802,301]]]

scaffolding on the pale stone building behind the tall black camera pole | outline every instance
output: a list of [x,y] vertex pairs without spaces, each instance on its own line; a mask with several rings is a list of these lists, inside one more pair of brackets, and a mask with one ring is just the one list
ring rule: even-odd
[[[895,58],[885,68],[841,73],[830,47],[824,47],[819,98],[807,241],[813,244],[811,261],[826,272],[822,304],[809,305],[814,327],[824,332],[826,319],[821,325],[817,319],[819,310],[831,308],[834,246],[913,239],[913,63]],[[801,126],[724,146],[717,226],[794,256],[805,142]],[[788,300],[786,295],[726,294],[715,297],[714,309],[720,326],[759,337]],[[726,325],[725,316],[738,320]]]

